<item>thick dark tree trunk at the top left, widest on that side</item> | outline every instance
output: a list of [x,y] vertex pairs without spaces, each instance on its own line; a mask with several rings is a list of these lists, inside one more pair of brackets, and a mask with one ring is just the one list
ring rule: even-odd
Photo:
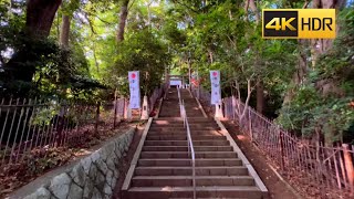
[[62,0],[28,0],[25,32],[33,36],[46,38]]

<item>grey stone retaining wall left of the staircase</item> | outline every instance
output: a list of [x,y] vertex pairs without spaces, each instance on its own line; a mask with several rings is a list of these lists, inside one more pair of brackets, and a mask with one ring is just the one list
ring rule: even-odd
[[24,199],[111,198],[135,129],[115,138]]

